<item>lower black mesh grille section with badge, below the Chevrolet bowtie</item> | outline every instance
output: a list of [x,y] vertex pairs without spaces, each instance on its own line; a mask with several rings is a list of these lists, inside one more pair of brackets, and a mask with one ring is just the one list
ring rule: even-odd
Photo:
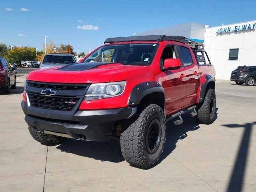
[[28,94],[30,104],[33,107],[71,111],[79,101],[79,98],[57,97],[57,96],[42,96],[37,94]]

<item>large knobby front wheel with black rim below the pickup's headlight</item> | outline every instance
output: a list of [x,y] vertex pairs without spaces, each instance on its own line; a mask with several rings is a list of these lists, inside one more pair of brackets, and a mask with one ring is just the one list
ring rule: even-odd
[[151,168],[159,160],[166,140],[166,119],[162,108],[148,105],[124,125],[120,136],[124,159],[131,165]]

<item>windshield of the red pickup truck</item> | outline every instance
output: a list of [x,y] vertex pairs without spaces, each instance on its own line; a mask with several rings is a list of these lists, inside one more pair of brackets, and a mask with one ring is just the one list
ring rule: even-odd
[[150,65],[158,44],[118,44],[102,46],[83,62],[122,63],[126,65]]

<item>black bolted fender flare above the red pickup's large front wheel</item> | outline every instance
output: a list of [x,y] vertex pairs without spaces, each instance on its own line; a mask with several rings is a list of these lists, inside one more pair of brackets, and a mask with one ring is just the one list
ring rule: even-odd
[[127,105],[133,106],[140,104],[140,101],[144,96],[154,92],[161,92],[164,94],[164,88],[155,81],[139,83],[132,88]]

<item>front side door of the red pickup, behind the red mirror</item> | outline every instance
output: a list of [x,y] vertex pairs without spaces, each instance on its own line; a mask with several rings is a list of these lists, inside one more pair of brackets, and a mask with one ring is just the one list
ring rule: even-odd
[[[178,58],[177,45],[167,44],[160,57],[160,68],[163,68],[165,59]],[[175,70],[162,70],[162,87],[165,92],[165,110],[170,114],[184,106],[185,71],[182,68]]]

